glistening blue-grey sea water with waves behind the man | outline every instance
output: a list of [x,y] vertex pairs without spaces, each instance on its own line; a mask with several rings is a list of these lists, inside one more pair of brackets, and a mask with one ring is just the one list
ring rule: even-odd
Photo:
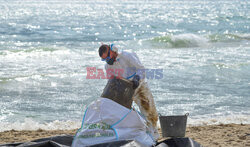
[[0,0],[0,131],[74,129],[107,79],[98,47],[137,53],[161,115],[250,123],[248,0]]

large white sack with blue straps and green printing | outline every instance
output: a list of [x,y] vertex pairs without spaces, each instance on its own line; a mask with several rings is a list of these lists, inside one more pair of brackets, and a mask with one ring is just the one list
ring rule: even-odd
[[85,111],[81,128],[72,146],[89,146],[117,140],[136,140],[143,146],[155,141],[147,131],[146,121],[134,110],[106,98],[92,102]]

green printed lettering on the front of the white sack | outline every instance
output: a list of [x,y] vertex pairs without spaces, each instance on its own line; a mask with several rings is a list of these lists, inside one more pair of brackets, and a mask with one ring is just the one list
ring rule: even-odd
[[79,135],[78,138],[112,137],[115,135],[111,126],[104,122],[84,124],[82,130],[89,131],[84,133],[84,135]]

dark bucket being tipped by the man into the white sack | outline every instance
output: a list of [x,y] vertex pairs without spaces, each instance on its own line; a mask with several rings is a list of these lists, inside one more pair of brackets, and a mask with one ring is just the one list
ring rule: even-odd
[[114,77],[109,79],[101,97],[111,99],[118,104],[131,109],[134,92],[133,83],[131,81]]

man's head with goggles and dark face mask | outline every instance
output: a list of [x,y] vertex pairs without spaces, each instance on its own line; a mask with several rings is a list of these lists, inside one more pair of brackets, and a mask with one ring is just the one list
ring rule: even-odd
[[106,61],[108,64],[113,65],[116,61],[117,53],[111,50],[110,45],[103,44],[99,47],[99,56],[103,61]]

